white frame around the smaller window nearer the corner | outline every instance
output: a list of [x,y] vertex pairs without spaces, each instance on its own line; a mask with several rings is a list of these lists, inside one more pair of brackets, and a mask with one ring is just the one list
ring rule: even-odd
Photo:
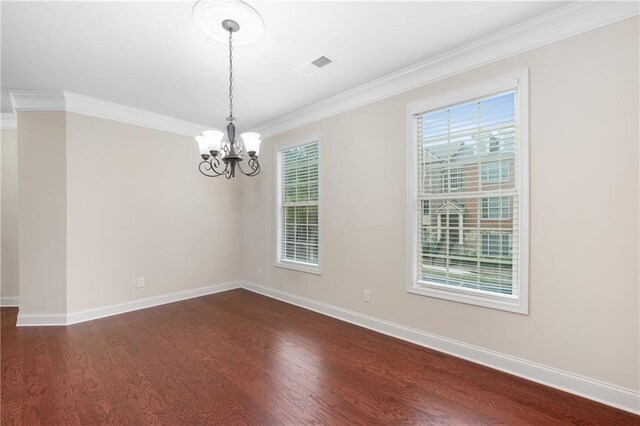
[[[318,264],[297,262],[282,258],[282,162],[281,154],[292,148],[316,143],[318,145]],[[277,144],[274,149],[274,182],[275,182],[275,256],[274,266],[291,269],[298,272],[306,272],[315,275],[322,275],[322,252],[323,252],[323,226],[322,226],[322,144],[319,134],[311,134],[294,141]]]

